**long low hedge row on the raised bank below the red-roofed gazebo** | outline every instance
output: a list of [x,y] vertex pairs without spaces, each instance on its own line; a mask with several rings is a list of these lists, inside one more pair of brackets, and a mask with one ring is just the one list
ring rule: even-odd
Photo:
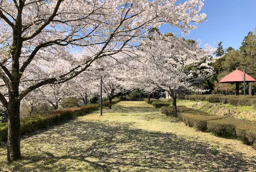
[[251,106],[256,104],[256,96],[235,96],[235,95],[189,95],[189,96],[178,96],[178,99],[182,100],[193,100],[193,101],[208,101],[211,103],[223,103],[231,104],[234,106]]

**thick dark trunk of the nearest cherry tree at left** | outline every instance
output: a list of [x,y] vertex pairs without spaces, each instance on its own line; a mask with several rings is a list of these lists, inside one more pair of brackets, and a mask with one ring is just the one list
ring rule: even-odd
[[20,155],[20,101],[10,96],[8,105],[8,141],[7,159],[9,162],[17,160]]

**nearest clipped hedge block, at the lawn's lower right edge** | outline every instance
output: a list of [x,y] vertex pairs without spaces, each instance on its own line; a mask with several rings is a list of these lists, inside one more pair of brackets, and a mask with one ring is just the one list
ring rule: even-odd
[[245,144],[256,146],[256,122],[237,118],[225,118],[207,122],[207,128],[216,136],[238,138]]

